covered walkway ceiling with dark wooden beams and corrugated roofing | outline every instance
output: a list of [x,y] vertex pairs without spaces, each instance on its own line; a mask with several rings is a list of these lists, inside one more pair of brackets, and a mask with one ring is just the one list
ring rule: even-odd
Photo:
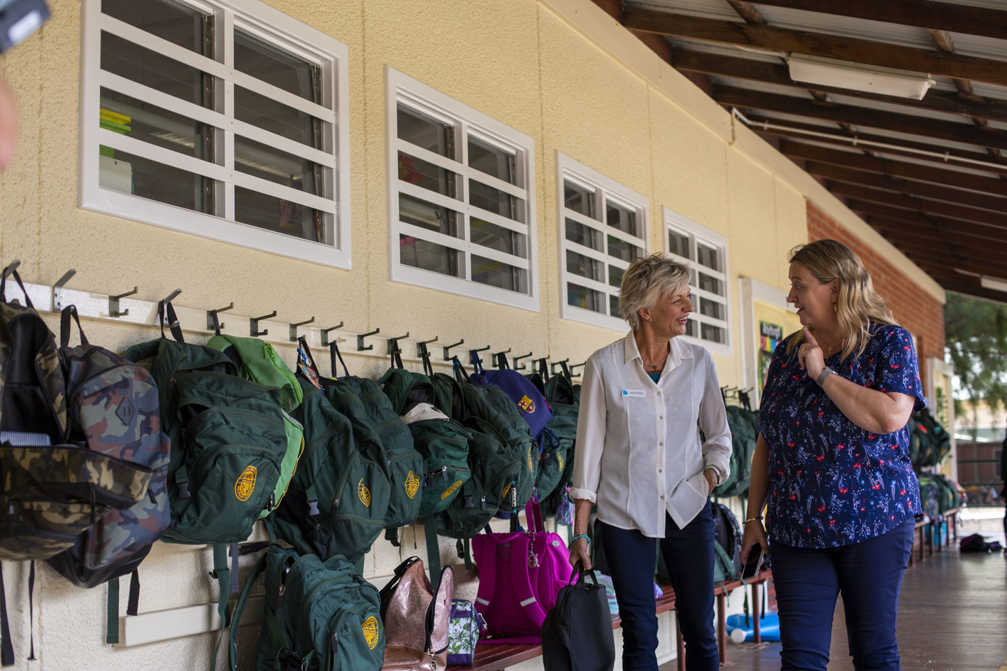
[[[946,290],[1007,302],[1007,0],[595,1]],[[934,83],[801,83],[794,54]]]

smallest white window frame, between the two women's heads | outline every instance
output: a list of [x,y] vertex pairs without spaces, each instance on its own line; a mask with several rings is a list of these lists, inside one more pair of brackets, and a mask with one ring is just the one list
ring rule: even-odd
[[[711,298],[716,300],[718,303],[723,302],[724,304],[724,319],[715,319],[713,317],[707,317],[700,314],[699,303],[693,299],[696,307],[696,311],[690,315],[689,319],[696,324],[696,333],[702,333],[702,325],[710,324],[711,326],[718,326],[724,330],[724,342],[714,342],[712,340],[704,340],[701,335],[696,336],[682,336],[687,341],[705,347],[711,352],[717,354],[723,354],[725,356],[733,356],[733,350],[731,347],[731,284],[728,281],[730,278],[730,258],[728,255],[727,237],[721,235],[720,233],[710,230],[703,224],[693,221],[687,216],[679,214],[675,210],[665,206],[662,208],[663,218],[665,220],[664,235],[665,235],[665,251],[672,259],[688,264],[689,268],[692,269],[693,273],[696,274],[696,284],[690,284],[690,291],[692,291],[694,297],[699,298]],[[680,235],[687,235],[689,237],[690,253],[694,259],[683,259],[682,257],[673,254],[671,245],[669,244],[668,234],[671,231],[675,231]],[[703,242],[707,246],[715,247],[723,259],[723,270],[715,271],[713,269],[707,268],[699,263],[698,256],[696,254],[696,243]],[[699,288],[699,273],[702,272],[706,275],[710,275],[717,280],[720,280],[722,286],[724,287],[724,295],[718,296],[709,292],[705,292]]]

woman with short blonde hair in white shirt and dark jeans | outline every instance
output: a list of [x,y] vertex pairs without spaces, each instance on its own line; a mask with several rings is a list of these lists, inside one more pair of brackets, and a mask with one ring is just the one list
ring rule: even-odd
[[709,495],[728,475],[731,434],[710,353],[679,337],[693,311],[690,277],[688,266],[661,254],[629,265],[619,312],[631,330],[591,355],[580,392],[570,563],[591,567],[587,529],[596,504],[622,618],[625,671],[658,668],[659,542],[675,590],[686,669],[718,668]]

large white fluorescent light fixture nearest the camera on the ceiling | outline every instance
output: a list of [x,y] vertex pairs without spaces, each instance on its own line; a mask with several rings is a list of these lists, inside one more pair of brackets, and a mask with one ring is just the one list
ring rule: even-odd
[[792,53],[786,58],[790,78],[805,83],[818,83],[837,89],[864,91],[881,96],[922,100],[926,90],[936,82],[926,72],[880,67],[823,58],[804,53]]

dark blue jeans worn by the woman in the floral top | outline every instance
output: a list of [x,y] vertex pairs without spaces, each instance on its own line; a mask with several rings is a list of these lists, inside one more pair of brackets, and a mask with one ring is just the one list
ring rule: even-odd
[[895,620],[912,536],[910,519],[888,533],[840,547],[770,543],[782,671],[826,670],[840,594],[853,668],[898,671]]

